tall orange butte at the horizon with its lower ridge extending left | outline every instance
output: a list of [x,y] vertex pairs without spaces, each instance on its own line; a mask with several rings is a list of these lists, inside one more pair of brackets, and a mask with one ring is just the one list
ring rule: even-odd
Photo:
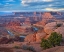
[[42,25],[42,26],[45,26],[46,25],[46,23],[48,23],[48,22],[50,22],[50,20],[52,19],[52,20],[54,20],[53,19],[54,17],[51,15],[51,13],[50,12],[45,12],[43,15],[42,15],[42,21],[39,21],[39,22],[37,22],[36,24],[37,25]]

